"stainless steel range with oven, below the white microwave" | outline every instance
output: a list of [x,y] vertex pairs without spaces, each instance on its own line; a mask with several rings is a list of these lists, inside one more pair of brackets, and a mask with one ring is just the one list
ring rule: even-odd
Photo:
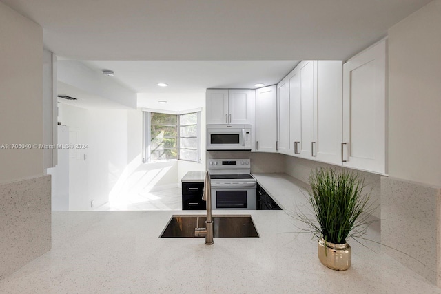
[[257,209],[249,158],[210,159],[208,164],[213,209]]

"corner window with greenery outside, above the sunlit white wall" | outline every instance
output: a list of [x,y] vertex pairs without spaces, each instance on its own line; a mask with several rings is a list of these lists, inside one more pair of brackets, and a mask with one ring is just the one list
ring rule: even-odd
[[201,112],[166,114],[144,112],[144,162],[199,162]]

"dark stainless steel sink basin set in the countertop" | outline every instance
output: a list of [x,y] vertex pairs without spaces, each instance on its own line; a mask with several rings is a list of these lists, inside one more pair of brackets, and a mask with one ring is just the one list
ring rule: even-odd
[[[205,216],[172,216],[160,238],[195,238],[194,229],[205,227]],[[213,236],[250,238],[258,233],[251,216],[213,216]]]

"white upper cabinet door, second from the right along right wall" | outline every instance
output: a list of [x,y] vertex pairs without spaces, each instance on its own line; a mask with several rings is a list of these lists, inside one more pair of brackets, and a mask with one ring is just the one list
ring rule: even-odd
[[318,61],[313,156],[341,165],[343,62]]

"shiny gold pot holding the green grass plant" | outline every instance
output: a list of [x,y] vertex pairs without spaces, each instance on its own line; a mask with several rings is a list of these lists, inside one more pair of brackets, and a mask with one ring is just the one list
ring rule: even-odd
[[318,259],[329,269],[346,271],[351,266],[351,246],[347,243],[329,243],[320,238],[318,240]]

